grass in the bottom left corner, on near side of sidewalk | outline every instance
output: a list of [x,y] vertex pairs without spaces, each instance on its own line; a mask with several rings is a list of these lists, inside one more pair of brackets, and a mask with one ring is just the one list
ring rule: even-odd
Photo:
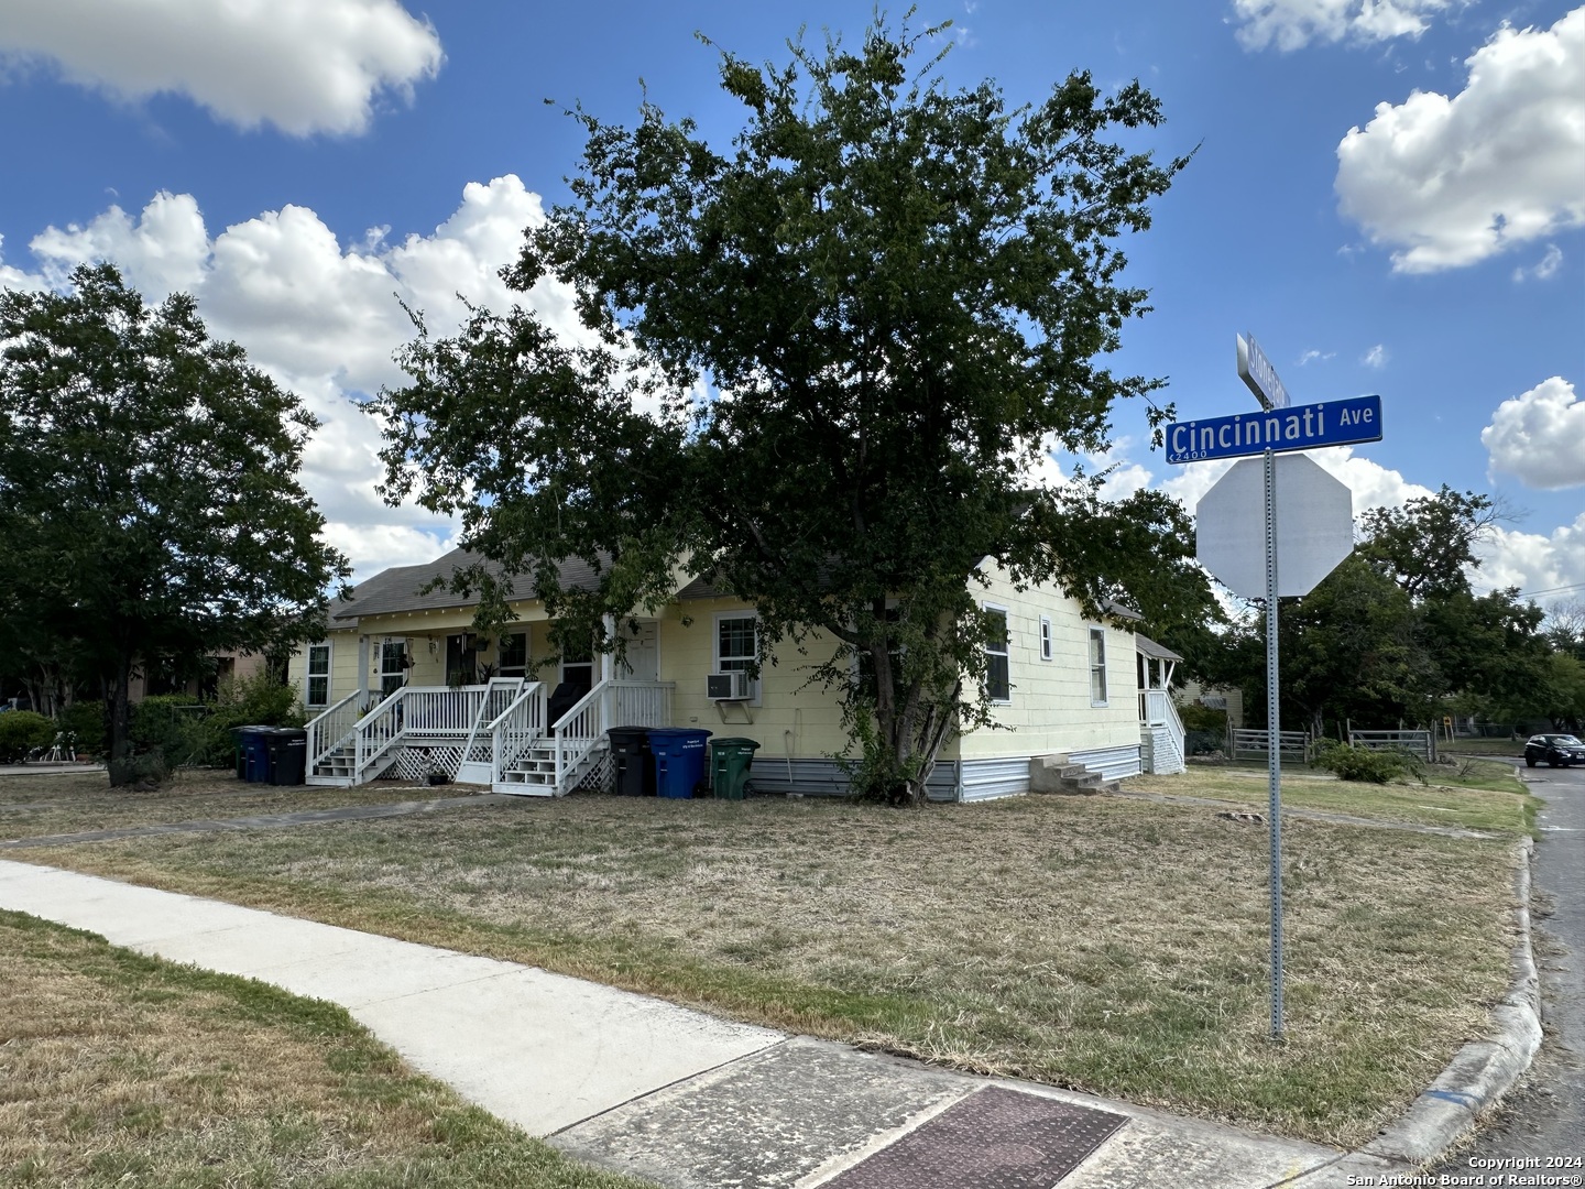
[[0,1183],[640,1189],[414,1075],[339,1007],[0,912]]

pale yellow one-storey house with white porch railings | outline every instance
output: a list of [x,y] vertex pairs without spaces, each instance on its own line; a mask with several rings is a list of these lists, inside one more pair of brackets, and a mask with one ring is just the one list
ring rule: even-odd
[[[512,602],[517,620],[480,640],[469,628],[477,599],[420,593],[469,561],[455,550],[377,574],[333,606],[322,642],[292,658],[311,715],[309,783],[441,770],[506,793],[560,796],[609,785],[609,728],[683,726],[758,742],[759,791],[846,793],[835,759],[848,750],[840,707],[810,682],[832,642],[816,636],[802,652],[781,648],[778,664],[748,679],[754,609],[693,580],[653,615],[623,618],[621,664],[563,656],[536,671],[534,658],[553,652],[536,599]],[[569,561],[561,582],[591,583],[593,572]],[[1140,772],[1152,748],[1135,634],[1086,620],[1059,590],[1019,591],[995,571],[976,596],[1006,618],[1006,644],[987,652],[994,715],[1011,729],[948,740],[932,799],[1025,793],[1051,770],[1102,780]]]

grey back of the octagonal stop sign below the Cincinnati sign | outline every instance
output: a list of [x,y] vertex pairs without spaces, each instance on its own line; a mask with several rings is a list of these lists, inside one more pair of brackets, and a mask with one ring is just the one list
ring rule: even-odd
[[[1309,594],[1354,552],[1354,493],[1301,453],[1278,455],[1278,594]],[[1235,594],[1266,596],[1265,460],[1244,458],[1195,509],[1195,555]]]

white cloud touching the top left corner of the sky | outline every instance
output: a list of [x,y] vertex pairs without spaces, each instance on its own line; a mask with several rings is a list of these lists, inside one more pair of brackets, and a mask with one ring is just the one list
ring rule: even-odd
[[43,59],[124,100],[182,94],[244,128],[363,132],[376,100],[411,98],[441,40],[396,0],[0,0],[0,54]]

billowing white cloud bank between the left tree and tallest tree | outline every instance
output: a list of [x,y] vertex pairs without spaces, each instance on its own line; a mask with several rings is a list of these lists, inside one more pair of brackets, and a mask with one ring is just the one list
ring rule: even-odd
[[458,293],[496,311],[517,298],[575,335],[566,292],[540,282],[515,295],[498,276],[517,258],[523,228],[540,219],[539,195],[510,174],[464,187],[461,205],[433,235],[387,243],[374,231],[352,247],[303,206],[266,211],[211,238],[192,195],[158,193],[138,217],[111,206],[82,227],[46,228],[32,241],[40,271],[0,265],[0,281],[60,287],[78,263],[114,260],[149,301],[193,293],[214,336],[241,342],[252,363],[320,419],[304,450],[303,484],[330,522],[327,536],[363,579],[428,561],[453,541],[456,525],[380,503],[379,426],[350,396],[404,379],[391,354],[414,331],[399,300],[442,335],[463,317]]

